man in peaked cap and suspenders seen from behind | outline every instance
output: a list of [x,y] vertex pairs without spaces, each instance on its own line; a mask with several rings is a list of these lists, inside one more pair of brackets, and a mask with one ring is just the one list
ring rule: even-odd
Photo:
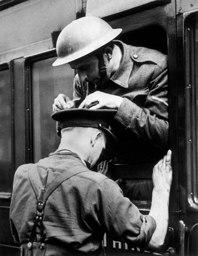
[[[102,239],[158,250],[168,225],[171,152],[154,167],[149,215],[125,198],[119,186],[89,170],[111,138],[115,110],[66,109],[58,150],[14,176],[10,223],[21,256],[103,255]],[[78,121],[78,122],[77,122]]]

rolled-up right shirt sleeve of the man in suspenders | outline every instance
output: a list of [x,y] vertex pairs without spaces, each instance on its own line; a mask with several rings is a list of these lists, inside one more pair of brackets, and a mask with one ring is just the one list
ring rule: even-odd
[[95,221],[113,240],[141,248],[150,242],[156,228],[154,218],[142,215],[114,181],[106,179],[100,183],[90,208]]

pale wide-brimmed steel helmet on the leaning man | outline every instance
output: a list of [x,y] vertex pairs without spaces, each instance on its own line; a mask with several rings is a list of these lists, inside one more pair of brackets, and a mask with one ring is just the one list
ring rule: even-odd
[[59,66],[93,52],[113,40],[122,31],[113,29],[97,17],[83,17],[66,26],[56,43],[58,59],[52,66]]

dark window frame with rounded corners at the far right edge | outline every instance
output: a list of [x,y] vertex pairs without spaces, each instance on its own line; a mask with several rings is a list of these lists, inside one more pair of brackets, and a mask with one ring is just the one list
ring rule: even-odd
[[196,115],[198,112],[198,93],[196,96],[196,70],[194,67],[194,31],[193,26],[198,22],[198,10],[183,14],[184,24],[184,61],[185,61],[185,145],[186,145],[186,186],[188,205],[193,210],[198,210],[198,133],[196,132]]

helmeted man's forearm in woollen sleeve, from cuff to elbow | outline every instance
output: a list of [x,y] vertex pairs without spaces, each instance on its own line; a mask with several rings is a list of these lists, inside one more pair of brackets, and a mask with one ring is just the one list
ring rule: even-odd
[[168,144],[168,120],[151,114],[147,108],[140,108],[124,98],[115,119],[133,130],[138,136],[152,144],[166,148]]

